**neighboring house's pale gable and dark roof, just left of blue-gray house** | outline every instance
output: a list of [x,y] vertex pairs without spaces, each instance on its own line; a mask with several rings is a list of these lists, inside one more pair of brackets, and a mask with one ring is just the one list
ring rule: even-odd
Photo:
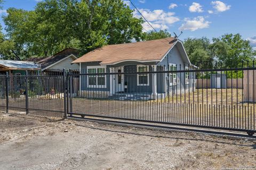
[[41,64],[44,74],[62,74],[63,69],[79,71],[79,64],[71,64],[78,56],[78,50],[75,48],[66,48],[61,52],[50,57],[31,57],[27,61],[33,61]]

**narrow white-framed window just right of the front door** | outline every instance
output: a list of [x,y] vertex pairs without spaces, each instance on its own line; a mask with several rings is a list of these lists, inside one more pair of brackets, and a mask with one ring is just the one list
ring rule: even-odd
[[[137,65],[137,72],[148,72],[149,67],[147,65]],[[138,86],[149,86],[149,74],[137,74]]]

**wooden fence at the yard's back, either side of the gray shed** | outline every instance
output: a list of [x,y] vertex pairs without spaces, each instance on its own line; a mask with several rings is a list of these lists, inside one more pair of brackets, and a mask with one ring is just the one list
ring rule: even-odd
[[[256,79],[255,79],[256,80]],[[210,89],[211,79],[197,79],[197,89]],[[243,89],[242,79],[227,79],[227,88]]]

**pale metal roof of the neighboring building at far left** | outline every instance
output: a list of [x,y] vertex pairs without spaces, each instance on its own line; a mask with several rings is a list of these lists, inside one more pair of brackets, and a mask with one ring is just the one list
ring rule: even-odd
[[1,70],[39,70],[40,65],[35,62],[24,62],[14,60],[0,60]]

